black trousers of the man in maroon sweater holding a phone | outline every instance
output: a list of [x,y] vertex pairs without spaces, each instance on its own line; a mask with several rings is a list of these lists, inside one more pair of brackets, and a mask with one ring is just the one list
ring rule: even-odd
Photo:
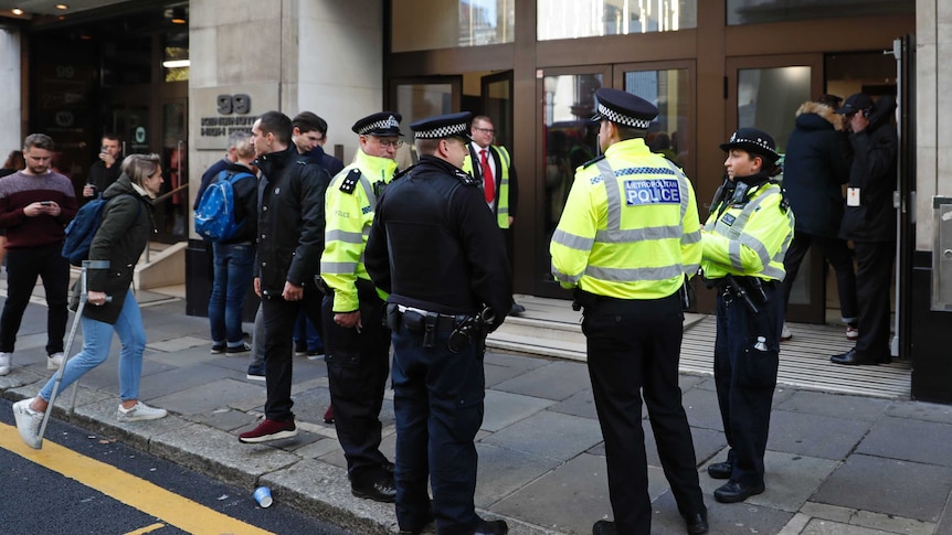
[[46,354],[63,351],[66,334],[66,297],[70,287],[70,261],[61,254],[63,244],[7,252],[7,302],[0,315],[0,351],[12,353],[23,312],[30,303],[36,277],[43,279],[46,292]]

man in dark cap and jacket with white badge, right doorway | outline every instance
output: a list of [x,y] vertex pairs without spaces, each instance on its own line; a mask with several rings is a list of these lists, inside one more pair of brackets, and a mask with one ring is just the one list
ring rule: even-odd
[[899,137],[891,116],[892,97],[876,105],[863,93],[851,95],[836,113],[846,116],[853,167],[846,190],[840,236],[856,248],[859,339],[856,346],[829,360],[835,364],[888,364],[889,288],[896,257],[896,159]]

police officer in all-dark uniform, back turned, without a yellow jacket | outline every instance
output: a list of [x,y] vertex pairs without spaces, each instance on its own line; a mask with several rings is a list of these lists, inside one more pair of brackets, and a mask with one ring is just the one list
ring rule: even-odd
[[437,533],[508,533],[506,522],[479,518],[473,497],[484,342],[512,304],[512,276],[479,181],[459,169],[469,118],[410,125],[420,162],[381,195],[364,255],[390,293],[396,521],[406,534],[434,516]]

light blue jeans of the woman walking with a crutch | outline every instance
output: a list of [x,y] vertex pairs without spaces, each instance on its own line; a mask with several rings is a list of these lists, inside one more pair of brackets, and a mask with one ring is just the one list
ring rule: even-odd
[[[142,375],[142,351],[146,350],[146,329],[142,327],[142,314],[133,290],[128,290],[115,325],[86,317],[80,318],[80,321],[83,323],[83,351],[66,361],[59,392],[65,390],[86,372],[106,362],[115,331],[123,345],[119,350],[119,398],[123,402],[138,399],[139,378]],[[55,379],[54,374],[40,390],[40,397],[46,402],[53,395]]]

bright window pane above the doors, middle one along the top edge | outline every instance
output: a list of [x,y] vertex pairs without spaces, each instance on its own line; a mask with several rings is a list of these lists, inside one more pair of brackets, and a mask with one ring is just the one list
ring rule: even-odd
[[697,28],[697,0],[539,0],[539,41]]

